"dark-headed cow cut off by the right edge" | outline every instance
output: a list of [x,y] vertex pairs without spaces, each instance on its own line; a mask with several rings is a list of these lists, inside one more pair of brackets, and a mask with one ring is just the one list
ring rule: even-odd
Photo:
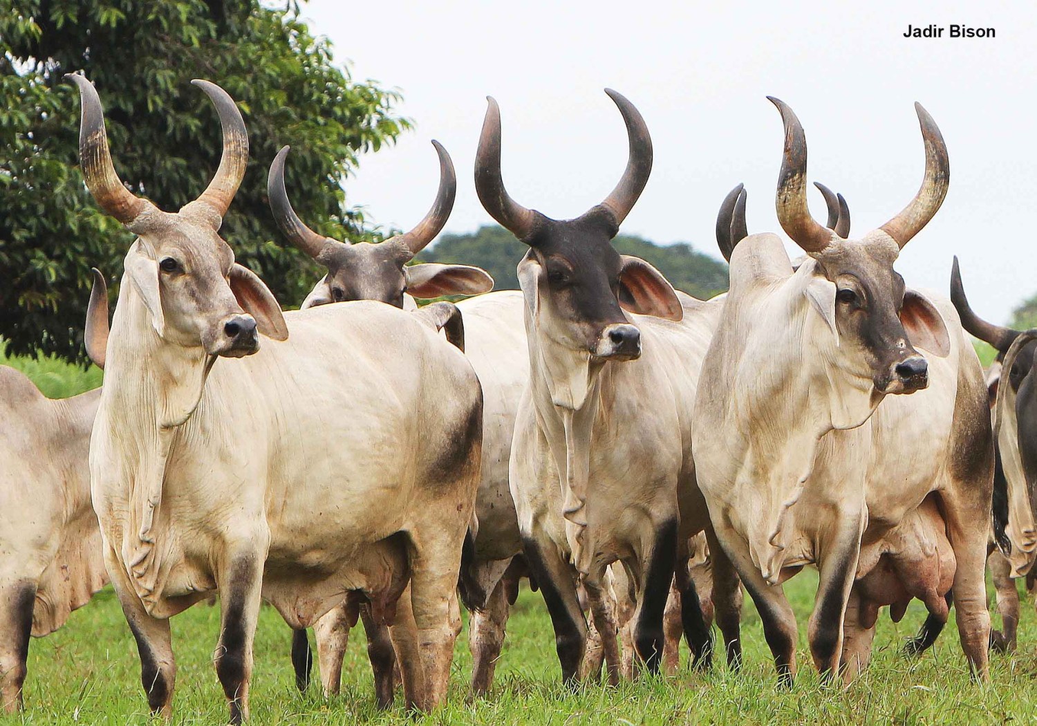
[[[993,479],[993,527],[987,549],[987,566],[997,592],[1001,615],[1001,631],[990,635],[990,646],[1000,651],[1013,651],[1019,622],[1019,593],[1015,579],[1024,578],[1027,590],[1034,592],[1033,563],[1037,552],[1035,527],[1035,495],[1037,456],[1033,444],[1037,441],[1037,395],[1031,379],[1037,344],[1030,332],[996,326],[982,319],[972,309],[961,282],[957,257],[951,269],[951,302],[961,325],[975,337],[998,351],[987,375],[987,391],[991,416],[996,418],[997,467]],[[1017,344],[1016,344],[1017,343]],[[1014,351],[1013,351],[1014,347]],[[1012,355],[1008,364],[1008,356]],[[1006,364],[1008,374],[1005,375]],[[1003,381],[1004,379],[1004,381]],[[1000,416],[1000,421],[998,417]],[[908,651],[922,652],[940,635],[942,624],[930,616],[919,635],[908,642]]]

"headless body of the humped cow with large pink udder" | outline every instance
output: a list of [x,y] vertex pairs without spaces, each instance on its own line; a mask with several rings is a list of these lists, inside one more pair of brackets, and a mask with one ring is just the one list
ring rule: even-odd
[[867,662],[879,605],[916,596],[946,620],[951,578],[963,647],[982,669],[992,452],[979,361],[950,303],[929,296],[950,335],[947,350],[914,341],[928,388],[876,393],[839,358],[856,343],[837,343],[805,294],[816,264],[793,273],[773,234],[747,238],[732,256],[694,424],[718,537],[761,609],[783,678],[794,673],[795,622],[781,583],[805,564],[821,573],[810,639],[822,672],[841,663],[849,677]]

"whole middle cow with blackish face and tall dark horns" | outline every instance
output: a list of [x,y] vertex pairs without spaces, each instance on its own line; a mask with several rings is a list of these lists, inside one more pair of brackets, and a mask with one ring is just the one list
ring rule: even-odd
[[[675,292],[654,268],[610,244],[651,170],[651,139],[633,104],[613,90],[626,124],[629,157],[601,204],[572,220],[553,220],[514,201],[501,178],[501,121],[488,108],[475,186],[491,217],[529,246],[518,264],[530,376],[515,418],[510,487],[526,561],[555,630],[562,678],[576,682],[587,623],[577,583],[587,591],[602,637],[610,682],[620,674],[615,614],[606,573],[621,562],[636,602],[634,642],[657,670],[670,582],[688,554],[678,543],[707,525],[688,456],[694,371],[720,304]],[[644,345],[642,347],[642,341]],[[737,578],[713,562],[713,601],[737,659]],[[681,589],[690,587],[681,577]],[[701,622],[691,612],[689,623]],[[723,617],[720,613],[723,612]]]

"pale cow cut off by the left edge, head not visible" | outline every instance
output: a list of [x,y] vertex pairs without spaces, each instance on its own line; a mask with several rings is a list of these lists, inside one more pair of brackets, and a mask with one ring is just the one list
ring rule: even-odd
[[108,582],[90,506],[94,389],[45,397],[0,366],[0,706],[22,707],[30,635],[41,638]]

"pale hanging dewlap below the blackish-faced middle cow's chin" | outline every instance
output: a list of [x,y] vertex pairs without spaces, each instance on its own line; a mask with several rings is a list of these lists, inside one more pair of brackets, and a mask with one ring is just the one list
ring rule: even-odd
[[543,335],[529,306],[525,319],[533,404],[559,473],[565,537],[577,569],[586,575],[594,553],[587,534],[590,447],[609,363]]

